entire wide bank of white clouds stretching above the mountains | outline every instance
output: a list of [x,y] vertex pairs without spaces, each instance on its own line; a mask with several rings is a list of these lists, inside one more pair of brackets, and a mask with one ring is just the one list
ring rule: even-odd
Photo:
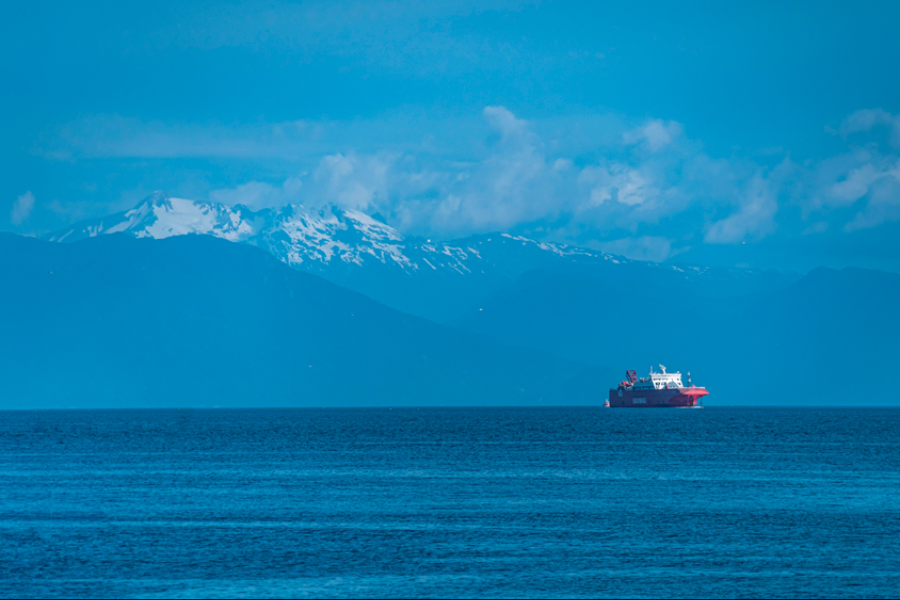
[[[503,106],[470,119],[230,128],[99,116],[36,152],[277,165],[280,178],[212,185],[204,194],[254,209],[299,203],[378,212],[410,234],[519,231],[661,260],[687,245],[757,241],[786,223],[815,234],[900,220],[898,124],[881,109],[857,111],[832,130],[846,140],[844,152],[802,164],[784,152],[711,156],[671,120],[526,120]],[[22,198],[16,223],[33,207],[33,197]]]

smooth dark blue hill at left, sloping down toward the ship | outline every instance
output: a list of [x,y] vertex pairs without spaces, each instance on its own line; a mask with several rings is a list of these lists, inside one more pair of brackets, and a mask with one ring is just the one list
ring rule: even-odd
[[0,234],[0,407],[597,402],[607,377],[208,236]]

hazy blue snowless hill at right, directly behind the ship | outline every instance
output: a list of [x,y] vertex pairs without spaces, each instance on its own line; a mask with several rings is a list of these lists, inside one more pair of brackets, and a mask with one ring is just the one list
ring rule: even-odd
[[690,280],[530,272],[459,325],[570,360],[690,369],[709,402],[898,404],[900,276],[816,269],[717,296]]

